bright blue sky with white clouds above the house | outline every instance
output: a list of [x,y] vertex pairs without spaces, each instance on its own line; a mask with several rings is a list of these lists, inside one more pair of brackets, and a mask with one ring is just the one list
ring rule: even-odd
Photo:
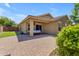
[[73,8],[72,3],[0,3],[0,16],[9,17],[19,24],[28,15],[71,15]]

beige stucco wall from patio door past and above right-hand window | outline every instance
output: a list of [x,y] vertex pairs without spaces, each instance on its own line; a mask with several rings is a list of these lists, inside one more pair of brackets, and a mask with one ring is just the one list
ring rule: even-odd
[[64,19],[64,20],[62,19],[59,21],[43,24],[43,32],[48,33],[48,34],[57,34],[59,32],[59,30],[58,30],[59,22],[62,27],[67,25],[67,19]]

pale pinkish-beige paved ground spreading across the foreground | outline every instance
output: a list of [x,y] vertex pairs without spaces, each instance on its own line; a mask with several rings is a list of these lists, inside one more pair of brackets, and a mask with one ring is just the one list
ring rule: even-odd
[[[24,35],[25,37],[25,35]],[[11,56],[48,56],[56,48],[56,38],[51,35],[37,35],[25,37],[26,40],[18,42],[16,36],[2,38],[0,41],[0,55]],[[23,39],[22,39],[23,40]]]

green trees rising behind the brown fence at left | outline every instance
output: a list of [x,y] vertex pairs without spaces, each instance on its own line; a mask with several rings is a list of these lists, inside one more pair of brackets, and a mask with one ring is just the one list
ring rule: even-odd
[[16,26],[16,23],[14,21],[12,21],[11,19],[4,17],[4,16],[0,16],[0,25],[3,26]]

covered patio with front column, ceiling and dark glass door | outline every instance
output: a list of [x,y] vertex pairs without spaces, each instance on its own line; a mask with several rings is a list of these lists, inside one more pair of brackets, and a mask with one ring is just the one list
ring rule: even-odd
[[30,27],[30,30],[29,30],[29,34],[30,36],[33,36],[34,33],[45,33],[44,32],[44,25],[45,24],[48,24],[50,22],[50,20],[46,19],[43,21],[43,19],[39,19],[39,18],[36,18],[34,20],[29,20],[29,27]]

